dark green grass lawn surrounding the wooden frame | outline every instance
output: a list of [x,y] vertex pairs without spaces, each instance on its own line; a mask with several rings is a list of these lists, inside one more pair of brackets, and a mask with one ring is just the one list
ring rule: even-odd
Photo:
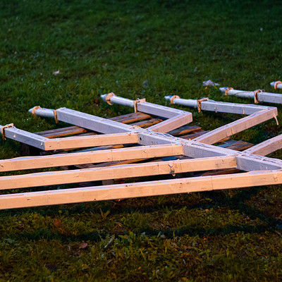
[[[30,116],[36,105],[131,112],[102,102],[107,92],[252,103],[202,81],[279,92],[281,15],[279,1],[2,0],[0,124],[61,126]],[[205,130],[235,118],[190,111]],[[269,121],[235,138],[281,131]],[[0,141],[1,159],[17,156]],[[282,281],[281,200],[268,186],[0,211],[0,281]]]

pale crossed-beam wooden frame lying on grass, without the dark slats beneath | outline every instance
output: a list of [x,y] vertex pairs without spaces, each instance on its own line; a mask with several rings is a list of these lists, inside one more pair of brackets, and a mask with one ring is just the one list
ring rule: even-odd
[[[90,152],[72,152],[49,156],[20,157],[0,161],[0,171],[27,170],[33,168],[50,168],[78,164],[100,164],[112,161],[128,161],[130,159],[151,159],[155,157],[183,156],[173,160],[142,162],[140,164],[119,164],[117,166],[90,167],[70,171],[47,171],[42,173],[27,173],[17,176],[1,176],[0,189],[11,190],[37,186],[60,185],[66,183],[80,183],[92,180],[107,180],[114,178],[133,178],[157,175],[175,175],[192,171],[209,171],[216,169],[237,168],[242,171],[223,176],[183,177],[179,179],[152,180],[138,183],[123,183],[116,185],[96,185],[86,188],[68,188],[61,190],[44,190],[38,192],[23,192],[0,195],[0,209],[20,207],[35,207],[49,204],[66,204],[96,200],[114,200],[128,197],[145,197],[152,195],[166,195],[181,192],[200,192],[229,188],[243,188],[256,185],[272,185],[282,183],[282,161],[256,154],[268,154],[268,144],[261,144],[237,152],[232,149],[216,147],[212,144],[219,142],[222,137],[231,136],[244,128],[253,126],[269,118],[276,118],[277,109],[274,107],[220,103],[211,100],[190,100],[199,110],[235,112],[249,116],[240,119],[238,123],[230,123],[221,128],[197,137],[185,140],[166,134],[179,126],[190,122],[191,114],[186,111],[147,103],[144,100],[133,101],[106,94],[102,97],[111,104],[127,104],[136,111],[149,112],[164,116],[166,121],[151,127],[138,128],[134,125],[113,122],[80,113],[70,109],[35,109],[33,114],[53,116],[59,121],[65,121],[85,128],[90,128],[102,135],[82,137],[55,138],[42,140],[40,148],[61,149],[69,147],[104,146],[113,144],[135,144],[136,147],[94,150]],[[170,97],[173,104],[179,102],[179,97]],[[178,122],[178,119],[180,120]],[[11,130],[16,137],[14,140],[38,146],[39,142],[34,133],[26,136],[23,130],[13,127],[4,128],[4,135],[11,136]],[[8,133],[8,134],[7,134]],[[18,134],[22,133],[22,134]],[[90,137],[85,141],[85,137]],[[65,141],[66,140],[66,141]],[[90,141],[91,140],[91,141]],[[81,143],[80,143],[81,142]],[[78,143],[78,144],[77,144]],[[282,142],[275,144],[271,152],[281,147]],[[56,147],[55,147],[55,145]],[[77,144],[77,145],[75,145]],[[85,146],[86,145],[86,146]]]

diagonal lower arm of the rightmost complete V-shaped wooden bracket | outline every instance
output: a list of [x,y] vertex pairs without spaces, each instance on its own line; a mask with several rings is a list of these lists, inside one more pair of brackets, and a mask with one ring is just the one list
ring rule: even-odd
[[233,121],[233,123],[228,123],[220,128],[210,131],[200,137],[195,138],[195,141],[202,142],[205,144],[212,145],[225,137],[230,137],[236,133],[239,133],[247,128],[251,128],[254,125],[268,121],[271,118],[276,118],[277,109],[267,109],[264,111],[257,111],[250,116],[245,116],[240,118],[238,121]]

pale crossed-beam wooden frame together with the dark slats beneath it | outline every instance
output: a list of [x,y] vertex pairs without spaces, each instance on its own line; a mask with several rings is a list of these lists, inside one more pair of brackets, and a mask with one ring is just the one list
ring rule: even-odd
[[[5,137],[50,154],[1,160],[0,171],[53,171],[1,176],[0,189],[6,193],[0,195],[0,209],[282,183],[282,161],[262,157],[281,148],[279,138],[253,147],[242,140],[230,140],[235,133],[276,118],[274,107],[204,100],[200,102],[202,110],[248,115],[208,132],[188,125],[192,121],[188,111],[113,94],[105,99],[111,104],[125,102],[135,113],[105,119],[66,108],[37,109],[35,114],[48,113],[72,126],[39,133],[1,126]],[[173,102],[180,100],[174,97]],[[58,167],[65,170],[54,171]],[[155,176],[164,179],[154,180]],[[132,178],[137,182],[126,183]],[[54,185],[73,183],[88,186],[54,189]],[[47,190],[30,192],[39,186]],[[13,192],[19,188],[25,192]]]

